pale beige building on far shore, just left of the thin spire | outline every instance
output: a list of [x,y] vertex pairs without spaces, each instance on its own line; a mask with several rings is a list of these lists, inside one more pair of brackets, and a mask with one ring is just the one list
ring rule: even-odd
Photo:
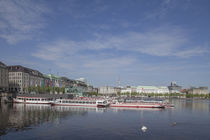
[[117,95],[120,92],[120,88],[112,86],[102,86],[98,88],[98,93],[102,95]]

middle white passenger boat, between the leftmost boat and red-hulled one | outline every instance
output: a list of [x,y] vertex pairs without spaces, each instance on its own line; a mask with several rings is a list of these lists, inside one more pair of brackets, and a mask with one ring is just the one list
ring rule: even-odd
[[109,102],[103,99],[56,99],[52,105],[59,106],[84,106],[84,107],[107,107]]

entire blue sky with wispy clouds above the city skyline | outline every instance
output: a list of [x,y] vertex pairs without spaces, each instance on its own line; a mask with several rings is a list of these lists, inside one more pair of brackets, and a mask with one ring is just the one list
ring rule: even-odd
[[210,1],[0,0],[0,61],[95,87],[210,88]]

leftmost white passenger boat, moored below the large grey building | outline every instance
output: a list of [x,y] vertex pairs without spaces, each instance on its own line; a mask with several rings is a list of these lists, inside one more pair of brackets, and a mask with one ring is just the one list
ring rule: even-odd
[[53,98],[49,97],[26,97],[26,96],[17,96],[13,98],[14,103],[24,103],[24,104],[50,104],[53,101]]

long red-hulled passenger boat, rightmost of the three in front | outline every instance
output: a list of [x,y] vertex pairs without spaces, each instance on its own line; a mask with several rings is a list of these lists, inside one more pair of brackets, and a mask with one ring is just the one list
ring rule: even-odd
[[110,107],[122,107],[122,108],[165,108],[165,104],[156,101],[136,101],[136,102],[119,102],[113,101],[110,103]]

